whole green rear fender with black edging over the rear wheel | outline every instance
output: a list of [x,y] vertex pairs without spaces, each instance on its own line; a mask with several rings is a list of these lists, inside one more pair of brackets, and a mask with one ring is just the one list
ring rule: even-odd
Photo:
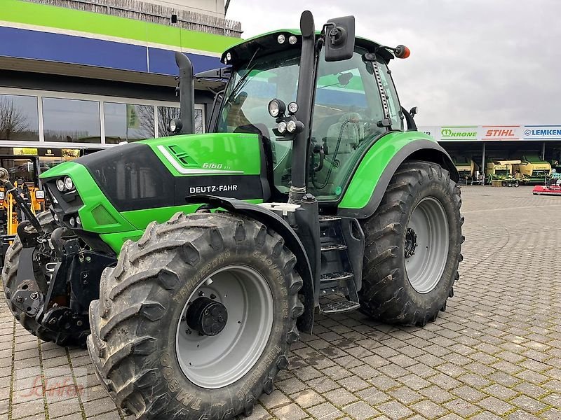
[[459,174],[450,155],[430,136],[421,132],[390,132],[367,151],[346,189],[337,214],[368,218],[378,208],[393,174],[405,160],[438,163],[454,181]]

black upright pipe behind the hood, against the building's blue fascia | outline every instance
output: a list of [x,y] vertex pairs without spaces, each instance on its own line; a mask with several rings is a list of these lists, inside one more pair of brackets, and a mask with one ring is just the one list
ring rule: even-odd
[[195,85],[193,64],[187,55],[175,52],[175,63],[180,68],[180,83],[176,92],[180,95],[180,134],[195,132]]

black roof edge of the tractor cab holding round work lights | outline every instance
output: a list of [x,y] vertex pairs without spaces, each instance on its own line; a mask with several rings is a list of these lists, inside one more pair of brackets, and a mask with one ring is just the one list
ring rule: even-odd
[[[316,31],[316,39],[319,38],[320,34],[320,31]],[[279,35],[285,36],[284,43],[278,43]],[[289,43],[288,39],[290,36],[296,36],[296,43]],[[393,58],[393,54],[386,50],[386,48],[380,48],[381,44],[370,41],[366,38],[360,38],[360,36],[357,36],[355,39],[356,46],[364,48],[367,52],[377,52],[382,58],[384,58],[386,64]],[[262,52],[257,53],[256,57],[259,57],[261,55],[271,54],[271,52],[289,50],[290,48],[297,48],[298,50],[302,48],[302,33],[298,29],[278,29],[276,31],[267,32],[266,34],[244,39],[243,41],[232,45],[224,51],[220,60],[224,64],[236,66],[239,62],[247,62],[252,58],[256,51]],[[228,53],[231,57],[229,60],[227,60]]]

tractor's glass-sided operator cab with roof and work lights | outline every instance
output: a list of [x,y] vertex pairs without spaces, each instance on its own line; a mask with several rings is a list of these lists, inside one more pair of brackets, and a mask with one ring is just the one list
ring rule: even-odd
[[[316,43],[320,36],[313,35]],[[301,76],[302,39],[299,31],[280,30],[224,52],[231,76],[210,131],[262,136],[270,153],[271,183],[285,201],[293,181],[293,146],[302,132],[309,138],[306,188],[320,202],[337,202],[372,143],[404,128],[388,69],[393,54],[364,38],[349,38],[343,59],[318,48]],[[299,91],[311,101],[306,112]]]

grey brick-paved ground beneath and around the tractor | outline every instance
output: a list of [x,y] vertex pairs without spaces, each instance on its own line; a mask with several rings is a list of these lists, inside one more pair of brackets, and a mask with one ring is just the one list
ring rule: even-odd
[[[423,329],[319,316],[250,419],[561,419],[561,197],[480,186],[463,197],[447,311]],[[0,305],[0,420],[125,419],[89,363]]]

